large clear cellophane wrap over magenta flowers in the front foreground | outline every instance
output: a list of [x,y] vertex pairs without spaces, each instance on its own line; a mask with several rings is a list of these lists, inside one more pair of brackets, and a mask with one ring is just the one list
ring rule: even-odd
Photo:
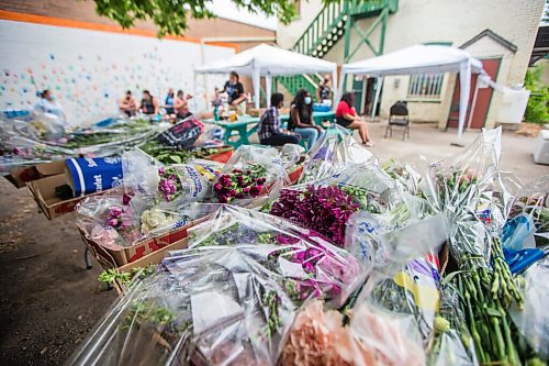
[[274,365],[296,309],[312,298],[337,307],[363,270],[322,235],[234,206],[190,230],[189,248],[161,267],[131,287],[74,364]]

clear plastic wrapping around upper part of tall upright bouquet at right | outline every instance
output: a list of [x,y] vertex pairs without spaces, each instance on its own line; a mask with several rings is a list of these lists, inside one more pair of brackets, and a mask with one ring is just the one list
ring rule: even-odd
[[452,223],[449,247],[458,264],[471,256],[489,259],[485,223],[492,218],[490,204],[500,177],[501,134],[501,127],[483,130],[462,153],[429,167],[427,198]]

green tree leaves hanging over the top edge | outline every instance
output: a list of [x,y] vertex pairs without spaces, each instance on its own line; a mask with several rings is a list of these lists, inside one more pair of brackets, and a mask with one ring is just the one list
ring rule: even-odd
[[[158,36],[181,35],[187,29],[188,18],[215,16],[206,5],[211,0],[93,0],[101,16],[130,29],[138,20],[152,20],[158,26]],[[289,23],[295,16],[293,1],[288,0],[232,0],[239,9],[251,13],[277,15]]]

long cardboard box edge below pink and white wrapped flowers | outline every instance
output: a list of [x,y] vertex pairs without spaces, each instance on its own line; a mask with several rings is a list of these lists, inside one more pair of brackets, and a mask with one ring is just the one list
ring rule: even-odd
[[86,232],[78,224],[78,231],[83,244],[90,249],[101,267],[104,269],[119,268],[141,260],[164,247],[177,243],[188,236],[188,230],[193,225],[208,220],[208,215],[189,222],[187,225],[166,233],[158,237],[145,239],[139,243],[126,248],[110,249],[101,246],[86,235]]

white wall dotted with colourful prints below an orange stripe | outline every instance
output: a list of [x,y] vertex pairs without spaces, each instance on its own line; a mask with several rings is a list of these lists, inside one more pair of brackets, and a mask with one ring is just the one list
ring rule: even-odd
[[[193,68],[235,52],[208,45],[202,57],[197,43],[12,21],[0,21],[0,109],[32,108],[35,90],[51,89],[75,125],[116,113],[127,89],[138,100],[149,89],[160,103],[169,87],[182,89],[195,96],[191,110],[202,110],[204,82]],[[212,92],[225,77],[205,79]]]

